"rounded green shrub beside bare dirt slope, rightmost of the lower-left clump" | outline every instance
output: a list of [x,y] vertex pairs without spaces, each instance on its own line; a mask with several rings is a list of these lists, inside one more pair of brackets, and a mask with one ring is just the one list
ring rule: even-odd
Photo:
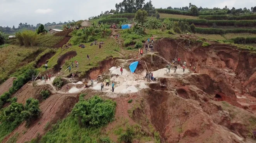
[[21,112],[23,120],[29,126],[31,121],[40,116],[41,110],[39,108],[39,101],[37,99],[29,98],[26,100],[25,110]]

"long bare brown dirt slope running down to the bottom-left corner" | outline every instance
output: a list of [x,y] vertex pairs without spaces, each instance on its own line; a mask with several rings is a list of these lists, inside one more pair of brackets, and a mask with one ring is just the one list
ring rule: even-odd
[[[18,98],[19,99],[19,98]],[[2,143],[6,143],[11,136],[17,136],[17,143],[24,143],[36,138],[38,134],[44,135],[50,126],[63,119],[71,111],[74,104],[78,102],[78,96],[69,94],[53,94],[40,104],[41,117],[34,121],[29,128],[26,128],[25,123],[22,123],[16,130],[12,131]],[[45,128],[47,126],[47,128]]]

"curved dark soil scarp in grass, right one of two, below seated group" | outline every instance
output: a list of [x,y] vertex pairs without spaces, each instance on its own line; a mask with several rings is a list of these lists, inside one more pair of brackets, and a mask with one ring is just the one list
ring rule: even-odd
[[54,71],[58,72],[59,68],[66,62],[66,60],[71,59],[77,55],[76,51],[69,51],[61,55],[57,61],[57,64],[54,66]]

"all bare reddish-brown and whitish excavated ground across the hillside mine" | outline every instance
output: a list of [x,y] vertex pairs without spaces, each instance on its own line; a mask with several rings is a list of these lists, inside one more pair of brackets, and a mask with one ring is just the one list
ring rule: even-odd
[[[125,129],[125,124],[139,124],[144,135],[152,140],[154,131],[159,131],[161,142],[165,143],[253,143],[250,138],[253,137],[252,131],[256,130],[256,54],[219,43],[211,42],[210,47],[201,47],[202,43],[182,40],[157,40],[154,48],[159,55],[148,53],[138,59],[108,59],[83,77],[99,77],[95,87],[81,91],[88,94],[85,98],[97,94],[117,103],[115,120],[103,131],[109,133],[111,140],[118,141],[113,130],[120,126]],[[179,42],[177,57],[182,59],[182,63],[187,62],[187,68],[183,73],[178,66],[177,73],[173,73],[172,66],[170,74],[166,74],[166,64],[176,56]],[[73,54],[59,58],[57,69],[67,57],[76,55],[71,52]],[[139,61],[136,74],[128,72],[128,66],[133,61]],[[196,66],[196,73],[189,69],[190,63]],[[119,66],[124,68],[123,75],[119,73]],[[153,72],[156,82],[144,81],[147,69]],[[97,89],[97,82],[107,76],[116,82],[114,93],[109,91],[110,87],[104,86],[107,90],[103,92]],[[146,86],[141,87],[144,84]],[[131,85],[136,90],[123,93],[122,88],[126,90]],[[80,93],[52,93],[42,101],[37,95],[46,88],[54,90],[47,84],[37,87],[26,84],[18,91],[19,103],[24,103],[29,97],[40,100],[42,117],[28,129],[22,124],[3,142],[16,133],[19,133],[17,142],[29,141],[37,133],[44,135],[47,131],[44,126],[64,118],[78,101]],[[129,104],[130,99],[133,102]],[[22,135],[24,130],[26,133]]]

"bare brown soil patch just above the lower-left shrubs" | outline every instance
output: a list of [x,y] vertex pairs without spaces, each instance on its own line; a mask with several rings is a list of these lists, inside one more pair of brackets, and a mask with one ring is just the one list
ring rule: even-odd
[[43,97],[40,95],[42,90],[53,91],[52,87],[48,84],[32,86],[31,84],[27,83],[14,95],[17,97],[17,103],[25,104],[28,98],[35,98],[38,99],[39,102],[42,102]]

